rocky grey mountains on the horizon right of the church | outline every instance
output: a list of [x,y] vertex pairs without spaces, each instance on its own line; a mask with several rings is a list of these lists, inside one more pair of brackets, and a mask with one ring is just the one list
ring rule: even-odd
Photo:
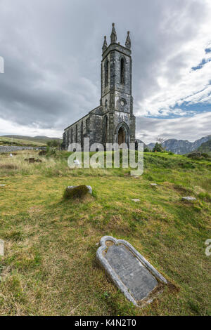
[[[174,154],[188,154],[189,152],[197,150],[200,145],[206,143],[210,139],[211,136],[205,136],[195,142],[189,142],[188,140],[177,140],[171,138],[162,143],[162,147],[164,147],[167,151],[174,152]],[[155,143],[150,143],[148,148],[152,150],[154,145]]]

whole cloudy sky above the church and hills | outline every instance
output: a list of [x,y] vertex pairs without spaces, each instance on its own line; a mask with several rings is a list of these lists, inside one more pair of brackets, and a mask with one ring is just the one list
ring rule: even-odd
[[136,136],[211,134],[210,0],[0,0],[0,135],[61,137],[101,98],[101,48],[131,32]]

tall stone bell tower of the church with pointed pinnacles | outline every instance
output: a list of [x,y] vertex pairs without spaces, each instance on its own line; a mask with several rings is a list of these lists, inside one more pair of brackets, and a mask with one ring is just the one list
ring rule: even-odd
[[101,107],[103,143],[134,143],[136,119],[133,114],[132,56],[129,32],[125,46],[117,43],[113,23],[108,46],[103,42],[101,62]]

